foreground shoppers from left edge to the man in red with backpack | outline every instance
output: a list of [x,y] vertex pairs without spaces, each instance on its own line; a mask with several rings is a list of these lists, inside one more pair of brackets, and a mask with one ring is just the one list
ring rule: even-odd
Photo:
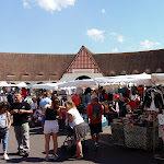
[[[42,116],[42,127],[45,134],[45,160],[49,161],[48,153],[50,137],[52,137],[54,141],[54,155],[51,157],[54,160],[57,160],[58,157],[57,133],[59,131],[60,122],[63,124],[66,117],[68,118],[69,126],[73,129],[77,144],[77,151],[73,157],[82,159],[83,152],[81,140],[85,138],[86,129],[84,118],[78,108],[80,105],[81,102],[77,104],[73,95],[70,99],[65,99],[65,103],[62,102],[61,105],[61,99],[57,96],[57,92],[54,92],[51,96],[49,92],[43,92],[42,98],[40,96],[34,96],[31,101],[21,93],[14,93],[12,102],[0,102],[0,141],[2,141],[3,144],[3,159],[9,160],[7,151],[11,116],[13,117],[12,125],[17,141],[16,154],[24,157],[30,155],[30,121],[32,126],[35,126],[35,115],[37,110],[39,110]],[[87,105],[85,104],[85,107],[87,118],[90,118],[92,139],[97,148],[99,138],[98,133],[102,132],[102,115],[104,114],[103,106],[98,104],[97,95],[92,94],[90,101],[87,98]],[[98,110],[98,116],[94,116],[97,115],[96,110]]]

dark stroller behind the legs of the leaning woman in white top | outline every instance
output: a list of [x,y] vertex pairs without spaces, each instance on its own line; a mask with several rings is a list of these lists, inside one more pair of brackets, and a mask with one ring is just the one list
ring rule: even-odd
[[[87,152],[87,147],[85,145],[85,139],[82,139],[82,149],[83,152],[84,151]],[[70,155],[73,155],[77,151],[73,129],[70,126],[67,126],[67,137],[62,143],[61,150],[68,151]]]

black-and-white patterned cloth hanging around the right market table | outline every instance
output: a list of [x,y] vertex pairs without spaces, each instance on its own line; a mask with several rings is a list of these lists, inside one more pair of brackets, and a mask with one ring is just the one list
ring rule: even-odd
[[[126,148],[153,150],[153,127],[140,127],[121,124],[112,124],[112,141]],[[159,138],[159,128],[155,128],[155,149],[163,147]]]

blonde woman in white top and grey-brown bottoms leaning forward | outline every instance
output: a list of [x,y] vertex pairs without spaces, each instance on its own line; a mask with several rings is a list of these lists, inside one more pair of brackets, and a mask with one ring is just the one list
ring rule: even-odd
[[68,120],[73,127],[73,134],[77,143],[77,152],[73,157],[82,159],[81,139],[85,137],[85,124],[72,101],[66,102],[66,108],[68,110]]

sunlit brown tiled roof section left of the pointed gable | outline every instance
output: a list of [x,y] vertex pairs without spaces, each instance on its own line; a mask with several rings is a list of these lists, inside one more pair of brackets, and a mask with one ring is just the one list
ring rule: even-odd
[[74,55],[0,52],[0,81],[58,81],[73,58]]

